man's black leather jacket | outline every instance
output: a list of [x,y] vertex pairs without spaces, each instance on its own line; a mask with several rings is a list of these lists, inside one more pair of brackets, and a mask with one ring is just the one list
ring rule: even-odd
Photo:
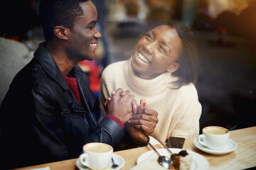
[[122,139],[124,131],[114,120],[97,123],[86,74],[77,65],[70,73],[78,81],[81,104],[43,43],[18,72],[0,110],[6,167],[72,159],[87,142],[115,145]]

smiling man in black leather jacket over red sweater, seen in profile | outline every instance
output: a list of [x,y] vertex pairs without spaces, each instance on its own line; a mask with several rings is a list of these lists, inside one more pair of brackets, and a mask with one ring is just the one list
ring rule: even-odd
[[16,75],[1,103],[1,169],[78,157],[87,142],[115,145],[124,136],[134,96],[118,89],[96,122],[95,96],[77,63],[93,60],[101,34],[92,1],[46,0],[46,42]]

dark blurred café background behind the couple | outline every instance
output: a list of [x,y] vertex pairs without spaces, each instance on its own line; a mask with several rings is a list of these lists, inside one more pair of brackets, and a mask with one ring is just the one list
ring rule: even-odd
[[[256,0],[92,0],[102,39],[94,61],[80,62],[98,96],[100,74],[127,60],[146,29],[178,20],[196,36],[201,129],[207,125],[256,125]],[[0,7],[0,103],[15,74],[44,41],[38,23],[40,0],[3,1]]]

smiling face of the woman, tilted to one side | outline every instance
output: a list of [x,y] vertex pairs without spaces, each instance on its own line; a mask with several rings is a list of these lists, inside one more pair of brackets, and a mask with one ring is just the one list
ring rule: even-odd
[[181,38],[175,28],[157,26],[149,30],[134,48],[132,68],[142,79],[153,79],[164,72],[175,72],[181,50]]

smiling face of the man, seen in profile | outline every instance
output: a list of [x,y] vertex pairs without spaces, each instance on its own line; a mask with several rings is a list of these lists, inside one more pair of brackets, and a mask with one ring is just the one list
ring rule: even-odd
[[80,3],[83,16],[78,16],[74,20],[74,27],[68,36],[68,56],[72,60],[80,62],[82,60],[93,60],[97,49],[98,39],[102,35],[96,28],[97,9],[92,1]]

